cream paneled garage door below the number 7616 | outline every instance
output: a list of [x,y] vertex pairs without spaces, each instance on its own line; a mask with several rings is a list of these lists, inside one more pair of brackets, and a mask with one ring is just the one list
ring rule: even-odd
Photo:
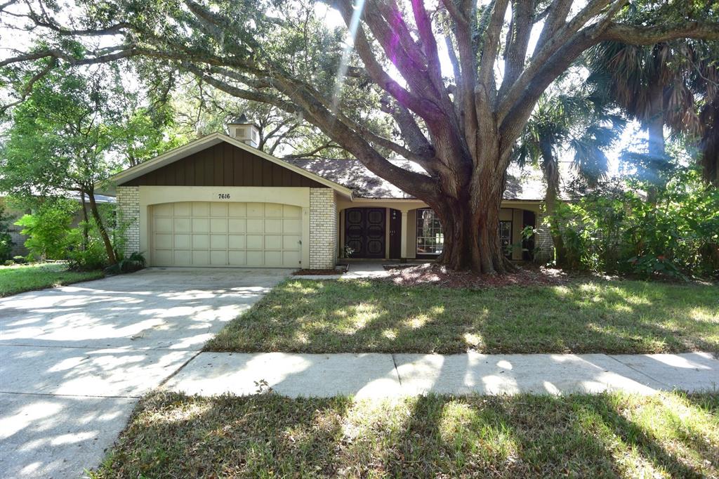
[[275,203],[152,206],[152,265],[298,268],[302,210]]

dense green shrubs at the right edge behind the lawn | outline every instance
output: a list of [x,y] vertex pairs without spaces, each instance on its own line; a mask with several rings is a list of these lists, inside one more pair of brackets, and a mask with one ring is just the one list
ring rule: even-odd
[[569,268],[644,278],[719,275],[719,189],[702,185],[695,168],[677,168],[652,204],[647,183],[591,193],[560,205],[551,219]]

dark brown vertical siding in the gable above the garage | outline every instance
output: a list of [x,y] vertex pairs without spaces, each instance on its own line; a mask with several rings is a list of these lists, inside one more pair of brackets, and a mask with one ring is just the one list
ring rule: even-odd
[[302,186],[327,188],[306,176],[221,142],[134,178],[122,186]]

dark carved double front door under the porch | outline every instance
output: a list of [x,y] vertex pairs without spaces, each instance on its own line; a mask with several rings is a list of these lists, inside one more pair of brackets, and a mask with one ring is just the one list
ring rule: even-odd
[[344,244],[354,250],[350,257],[385,257],[385,209],[345,210]]

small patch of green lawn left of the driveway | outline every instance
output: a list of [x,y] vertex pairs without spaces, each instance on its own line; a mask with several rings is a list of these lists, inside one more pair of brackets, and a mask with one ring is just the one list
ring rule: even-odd
[[0,297],[98,278],[102,271],[68,271],[64,263],[0,266]]

